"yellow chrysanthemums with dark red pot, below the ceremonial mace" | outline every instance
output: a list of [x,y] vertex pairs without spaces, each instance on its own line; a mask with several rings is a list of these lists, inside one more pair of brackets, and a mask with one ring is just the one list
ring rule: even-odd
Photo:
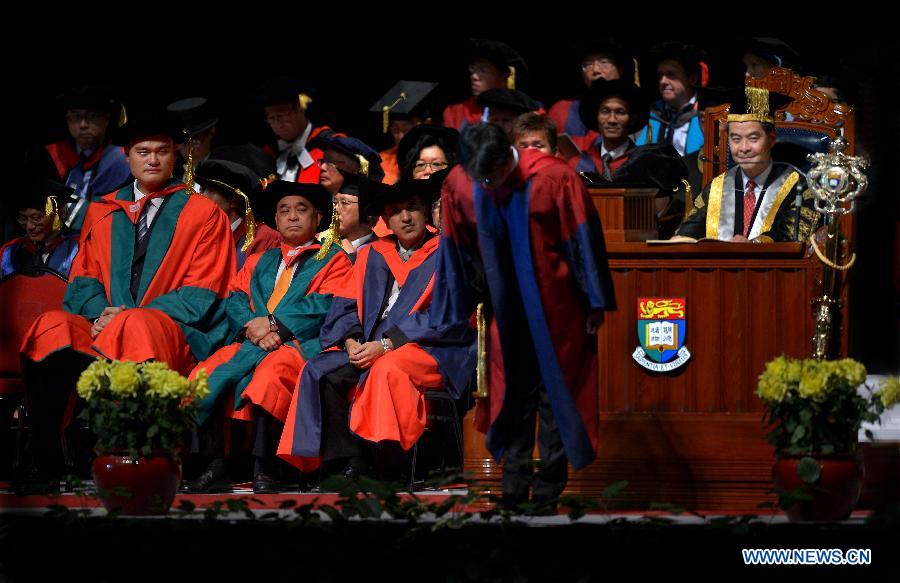
[[879,391],[865,380],[866,368],[849,358],[780,356],[760,375],[756,392],[777,456],[775,489],[791,520],[842,520],[856,506],[863,480],[859,429],[900,401],[898,379]]

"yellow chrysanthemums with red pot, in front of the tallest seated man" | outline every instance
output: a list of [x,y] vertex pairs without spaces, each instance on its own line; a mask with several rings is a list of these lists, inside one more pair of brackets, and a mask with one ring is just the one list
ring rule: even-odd
[[78,379],[81,418],[97,435],[92,470],[107,510],[165,514],[181,480],[177,449],[209,389],[162,362],[94,361]]

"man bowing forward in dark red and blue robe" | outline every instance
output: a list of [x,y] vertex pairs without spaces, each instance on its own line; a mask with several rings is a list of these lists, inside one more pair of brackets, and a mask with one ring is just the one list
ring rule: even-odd
[[[504,504],[555,511],[568,479],[597,447],[597,339],[615,307],[600,220],[559,158],[517,151],[492,124],[463,133],[463,164],[444,183],[431,325],[488,314],[488,398],[476,426],[503,459]],[[507,366],[505,366],[507,365]],[[535,415],[541,466],[532,475]]]

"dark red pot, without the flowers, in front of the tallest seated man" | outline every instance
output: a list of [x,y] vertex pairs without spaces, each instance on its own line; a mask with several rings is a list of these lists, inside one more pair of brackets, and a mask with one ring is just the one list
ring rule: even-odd
[[130,516],[166,514],[181,483],[181,460],[170,452],[137,460],[126,452],[100,452],[91,469],[107,511]]

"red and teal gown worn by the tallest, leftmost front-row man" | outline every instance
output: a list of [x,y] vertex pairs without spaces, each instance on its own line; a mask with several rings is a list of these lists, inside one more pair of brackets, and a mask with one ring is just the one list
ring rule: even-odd
[[[151,198],[164,201],[151,224],[147,254],[131,295],[137,221]],[[91,204],[69,275],[63,310],[42,314],[22,353],[44,360],[63,348],[118,360],[159,360],[187,374],[221,346],[228,332],[224,299],[234,273],[228,217],[209,199],[171,181],[134,202],[134,185]],[[97,338],[92,321],[104,308],[127,309]]]

